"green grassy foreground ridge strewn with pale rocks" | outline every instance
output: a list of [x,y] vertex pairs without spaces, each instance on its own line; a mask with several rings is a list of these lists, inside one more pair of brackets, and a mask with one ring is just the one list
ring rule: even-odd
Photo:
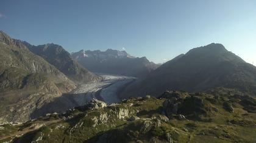
[[256,142],[255,127],[256,100],[243,93],[166,91],[1,125],[0,142]]

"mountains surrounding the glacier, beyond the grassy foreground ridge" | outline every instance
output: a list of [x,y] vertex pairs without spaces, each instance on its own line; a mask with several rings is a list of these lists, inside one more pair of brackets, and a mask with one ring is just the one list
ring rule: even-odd
[[125,51],[69,54],[57,44],[31,45],[0,32],[0,59],[1,122],[23,122],[74,106],[68,97],[60,97],[79,84],[102,80],[91,71],[137,77],[118,90],[120,99],[159,96],[166,90],[202,92],[215,88],[256,95],[256,67],[214,43],[193,48],[159,67]]

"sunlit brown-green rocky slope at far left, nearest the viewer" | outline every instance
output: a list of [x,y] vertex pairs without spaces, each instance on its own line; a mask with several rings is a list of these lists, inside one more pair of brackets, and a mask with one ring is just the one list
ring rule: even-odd
[[76,88],[57,68],[4,32],[0,61],[0,122],[27,121],[38,108]]

